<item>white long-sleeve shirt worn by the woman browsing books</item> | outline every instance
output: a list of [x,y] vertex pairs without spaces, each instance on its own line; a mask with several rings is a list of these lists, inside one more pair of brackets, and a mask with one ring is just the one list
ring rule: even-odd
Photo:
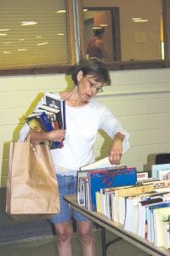
[[[44,103],[43,98],[37,107],[42,103]],[[65,119],[64,147],[51,150],[54,166],[63,167],[62,172],[78,170],[81,166],[94,161],[94,142],[100,129],[111,138],[117,132],[121,132],[125,136],[122,143],[123,153],[129,148],[127,131],[122,128],[111,111],[94,98],[82,107],[65,104]],[[28,131],[29,126],[25,124],[20,131],[20,141],[25,140]],[[59,171],[59,168],[55,169]]]

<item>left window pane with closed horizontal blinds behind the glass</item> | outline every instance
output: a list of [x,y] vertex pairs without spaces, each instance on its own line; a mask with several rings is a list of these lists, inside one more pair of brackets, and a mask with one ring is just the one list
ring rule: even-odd
[[0,69],[69,63],[65,0],[0,3]]

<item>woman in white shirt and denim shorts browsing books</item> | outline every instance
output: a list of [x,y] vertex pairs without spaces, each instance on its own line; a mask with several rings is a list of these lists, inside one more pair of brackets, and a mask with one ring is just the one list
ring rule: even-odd
[[[66,194],[77,192],[77,170],[81,166],[94,161],[94,141],[99,129],[103,129],[112,138],[109,151],[111,164],[119,165],[122,152],[127,150],[128,133],[116,120],[111,111],[100,102],[94,100],[103,86],[111,84],[109,72],[103,61],[91,58],[78,65],[73,73],[74,88],[61,92],[65,99],[66,131],[56,130],[44,133],[31,131],[31,142],[46,140],[62,141],[64,147],[51,150],[54,168],[59,183],[60,213],[50,218],[54,224],[59,256],[71,256],[71,210],[63,200]],[[39,104],[43,103],[43,99]],[[38,104],[38,106],[39,106]],[[25,125],[20,131],[20,140],[24,140],[29,128]],[[83,256],[94,256],[95,245],[93,224],[78,212],[72,212],[77,220],[77,233],[82,245]]]

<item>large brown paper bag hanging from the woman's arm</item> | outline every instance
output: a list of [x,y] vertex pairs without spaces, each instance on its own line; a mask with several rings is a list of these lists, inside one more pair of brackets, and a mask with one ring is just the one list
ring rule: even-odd
[[48,218],[59,212],[58,182],[47,144],[10,143],[6,212],[13,218]]

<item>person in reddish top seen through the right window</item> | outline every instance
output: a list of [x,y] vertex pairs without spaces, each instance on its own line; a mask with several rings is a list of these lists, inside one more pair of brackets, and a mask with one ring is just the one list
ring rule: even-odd
[[107,54],[102,40],[104,32],[104,27],[94,27],[94,38],[90,39],[86,50],[87,58],[97,57],[102,60],[106,59]]

